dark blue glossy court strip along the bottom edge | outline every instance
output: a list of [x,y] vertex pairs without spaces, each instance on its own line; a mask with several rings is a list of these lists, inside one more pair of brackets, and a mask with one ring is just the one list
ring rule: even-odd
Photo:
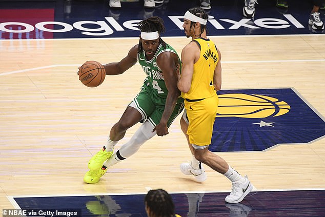
[[[324,216],[325,190],[251,192],[238,204],[229,193],[172,193],[181,216]],[[81,210],[82,216],[147,216],[144,194],[14,198],[22,209]]]

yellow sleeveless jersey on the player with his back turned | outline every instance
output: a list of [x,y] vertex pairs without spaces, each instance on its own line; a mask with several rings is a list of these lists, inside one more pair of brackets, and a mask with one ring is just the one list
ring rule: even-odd
[[214,69],[219,61],[219,55],[215,44],[206,38],[196,38],[200,47],[200,57],[194,63],[191,88],[188,93],[181,93],[183,98],[198,100],[208,98],[216,94],[213,86]]

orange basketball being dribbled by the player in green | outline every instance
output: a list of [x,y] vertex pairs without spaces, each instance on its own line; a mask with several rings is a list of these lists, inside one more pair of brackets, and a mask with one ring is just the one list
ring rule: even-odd
[[87,61],[79,68],[79,80],[87,87],[97,87],[104,82],[106,71],[96,61]]

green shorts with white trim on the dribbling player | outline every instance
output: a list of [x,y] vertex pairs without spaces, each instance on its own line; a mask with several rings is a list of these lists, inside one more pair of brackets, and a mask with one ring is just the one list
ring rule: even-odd
[[[164,113],[166,104],[166,98],[161,98],[155,96],[150,87],[142,86],[141,91],[129,104],[129,106],[137,109],[143,116],[141,123],[144,123],[148,120],[153,126],[159,124],[161,120],[162,113]],[[167,127],[175,120],[178,114],[184,109],[184,100],[179,98],[175,105],[173,113],[170,115],[170,118],[167,122]]]

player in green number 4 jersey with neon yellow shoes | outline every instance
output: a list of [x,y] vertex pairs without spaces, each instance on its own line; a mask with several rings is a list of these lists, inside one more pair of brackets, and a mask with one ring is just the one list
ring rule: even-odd
[[[104,67],[107,75],[117,75],[139,62],[147,77],[140,92],[112,127],[106,145],[90,159],[90,170],[84,176],[84,181],[89,184],[97,183],[107,168],[137,152],[154,135],[167,135],[168,127],[184,108],[184,100],[177,88],[176,69],[180,68],[180,59],[176,51],[160,38],[160,33],[165,31],[164,22],[153,16],[138,25],[141,31],[139,44],[132,47],[120,62]],[[131,140],[113,153],[116,143],[138,122],[143,125]]]

